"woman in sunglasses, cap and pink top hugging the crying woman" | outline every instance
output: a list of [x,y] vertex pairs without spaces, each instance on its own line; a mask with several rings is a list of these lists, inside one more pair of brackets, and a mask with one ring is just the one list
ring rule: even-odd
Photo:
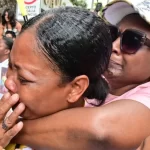
[[105,73],[110,94],[103,106],[25,121],[14,141],[36,149],[137,149],[150,135],[149,12],[149,0],[113,1],[103,12],[113,39]]

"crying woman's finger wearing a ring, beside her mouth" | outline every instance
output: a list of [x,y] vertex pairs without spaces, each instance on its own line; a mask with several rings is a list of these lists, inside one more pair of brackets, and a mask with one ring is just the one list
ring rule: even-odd
[[20,116],[24,109],[25,105],[23,103],[20,103],[11,113],[11,115],[5,119],[5,124],[8,127],[8,129],[16,123],[16,121],[18,120],[18,116]]

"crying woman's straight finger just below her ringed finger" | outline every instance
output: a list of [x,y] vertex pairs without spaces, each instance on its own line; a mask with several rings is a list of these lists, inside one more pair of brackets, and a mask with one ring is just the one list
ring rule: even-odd
[[[13,126],[10,130],[8,130],[4,136],[3,139],[0,142],[0,145],[2,147],[6,147],[11,139],[16,136],[16,134],[23,128],[23,122],[18,122],[15,126]],[[1,149],[0,149],[1,150]]]

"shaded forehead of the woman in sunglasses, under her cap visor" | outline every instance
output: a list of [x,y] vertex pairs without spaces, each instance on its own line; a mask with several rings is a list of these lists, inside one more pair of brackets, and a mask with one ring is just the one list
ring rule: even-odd
[[123,31],[125,29],[140,30],[150,37],[150,25],[136,14],[126,16],[120,21],[118,26],[119,26],[119,29]]

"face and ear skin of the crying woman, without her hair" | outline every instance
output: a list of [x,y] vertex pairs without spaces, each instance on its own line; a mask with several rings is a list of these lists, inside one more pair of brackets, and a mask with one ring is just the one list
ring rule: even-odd
[[[61,73],[54,71],[42,52],[35,51],[36,44],[34,48],[30,46],[32,43],[35,43],[34,33],[30,30],[16,39],[7,73],[6,86],[12,80],[16,89],[10,92],[18,93],[19,102],[26,106],[21,116],[37,119],[67,108],[83,106],[84,101],[79,98],[88,87],[88,78],[82,75],[62,84]],[[50,99],[47,100],[47,97]]]

